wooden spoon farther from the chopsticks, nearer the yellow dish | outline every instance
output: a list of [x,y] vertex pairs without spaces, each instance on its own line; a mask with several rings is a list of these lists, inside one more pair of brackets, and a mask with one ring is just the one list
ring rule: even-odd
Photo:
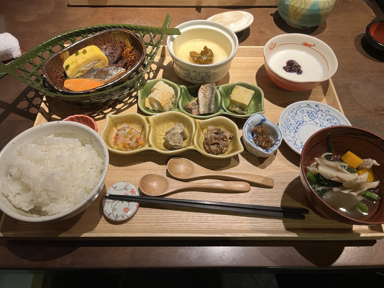
[[205,176],[225,176],[231,179],[243,180],[251,183],[273,187],[273,179],[253,174],[232,173],[209,170],[185,158],[175,157],[168,161],[168,172],[177,179],[192,179]]

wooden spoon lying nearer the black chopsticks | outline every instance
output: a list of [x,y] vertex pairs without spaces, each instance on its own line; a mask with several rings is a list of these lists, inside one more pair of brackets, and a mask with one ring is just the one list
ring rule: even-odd
[[149,196],[161,196],[180,189],[210,188],[248,192],[251,186],[240,181],[181,182],[157,174],[147,174],[139,182],[141,191]]

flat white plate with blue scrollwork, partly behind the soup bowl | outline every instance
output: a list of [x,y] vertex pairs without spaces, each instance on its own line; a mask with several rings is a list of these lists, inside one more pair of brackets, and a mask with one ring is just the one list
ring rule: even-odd
[[351,123],[335,108],[316,101],[299,101],[283,110],[279,127],[288,146],[301,155],[305,142],[315,132],[329,126]]

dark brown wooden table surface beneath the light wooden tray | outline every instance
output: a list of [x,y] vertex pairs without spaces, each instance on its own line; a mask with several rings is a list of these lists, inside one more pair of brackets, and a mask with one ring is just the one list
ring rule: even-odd
[[[2,3],[0,33],[9,32],[25,49],[66,31],[90,25],[130,23],[171,27],[206,19],[229,8],[69,7],[65,0]],[[338,58],[332,77],[344,113],[353,126],[384,136],[384,62],[365,48],[368,23],[384,19],[373,0],[336,1],[318,27],[298,31],[276,7],[239,8],[255,20],[238,33],[242,46],[264,46],[275,35],[307,33],[326,42]],[[165,43],[164,43],[165,44]],[[364,48],[363,48],[364,47]],[[383,59],[382,59],[383,60]],[[10,76],[0,79],[0,149],[33,126],[43,95]],[[0,240],[0,268],[82,269],[129,267],[379,268],[384,239],[378,241],[14,241]]]

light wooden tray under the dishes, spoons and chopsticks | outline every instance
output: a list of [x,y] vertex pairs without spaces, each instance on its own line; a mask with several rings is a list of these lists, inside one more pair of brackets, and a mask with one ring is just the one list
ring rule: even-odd
[[[147,79],[166,78],[177,84],[184,83],[174,72],[166,47],[161,47],[152,64]],[[266,74],[263,64],[262,47],[239,47],[229,73],[217,84],[247,81],[257,84],[265,94],[265,116],[278,123],[283,109],[301,100],[314,100],[328,103],[343,112],[332,81],[329,80],[311,91],[290,92],[276,86]],[[74,106],[53,98],[44,99],[35,125],[63,119],[69,115],[85,113],[92,116],[101,133],[108,113],[138,111],[137,97],[133,95],[124,102],[112,103],[105,108],[98,106]],[[241,127],[244,119],[233,119]],[[285,205],[306,207],[304,189],[300,182],[300,156],[283,142],[276,154],[268,158],[258,158],[246,150],[238,156],[212,161],[195,151],[183,152],[179,156],[191,159],[198,164],[215,170],[250,172],[265,175],[275,180],[275,187],[266,189],[251,186],[251,191],[242,194],[180,192],[174,198],[205,199],[222,202],[237,202],[260,205]],[[362,240],[384,237],[383,227],[352,226],[333,220],[325,220],[314,212],[305,220],[253,218],[238,215],[196,212],[194,210],[161,210],[139,207],[137,214],[124,223],[108,222],[101,209],[101,199],[106,187],[119,181],[132,182],[136,187],[139,179],[148,173],[166,175],[169,157],[154,151],[145,151],[124,157],[110,153],[109,170],[105,187],[99,198],[82,214],[58,223],[27,223],[13,220],[3,215],[0,222],[0,235],[3,237],[23,237],[46,239],[70,237],[76,239],[116,239],[116,238],[225,238],[225,239],[297,239],[297,240]]]

